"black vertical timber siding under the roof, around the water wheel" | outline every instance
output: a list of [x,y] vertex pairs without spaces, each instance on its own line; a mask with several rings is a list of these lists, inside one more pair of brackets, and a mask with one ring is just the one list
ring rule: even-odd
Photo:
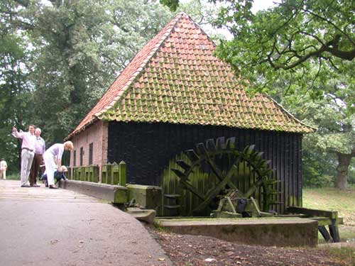
[[209,138],[236,137],[237,148],[255,144],[271,160],[275,177],[280,179],[280,201],[285,206],[302,204],[301,142],[299,133],[257,131],[223,126],[170,123],[109,123],[108,162],[124,160],[127,182],[159,185],[168,162],[183,150],[195,148]]

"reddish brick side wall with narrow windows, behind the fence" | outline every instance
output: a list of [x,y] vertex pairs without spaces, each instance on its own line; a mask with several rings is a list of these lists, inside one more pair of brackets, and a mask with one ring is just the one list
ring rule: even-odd
[[[74,150],[70,152],[70,167],[80,166],[80,150],[82,148],[82,166],[102,165],[107,163],[108,123],[97,121],[71,140]],[[92,143],[92,164],[89,164],[89,145]],[[74,163],[74,152],[75,163]]]

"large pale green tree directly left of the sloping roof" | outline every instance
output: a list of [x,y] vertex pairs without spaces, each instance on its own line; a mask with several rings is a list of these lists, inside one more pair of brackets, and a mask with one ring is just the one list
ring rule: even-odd
[[50,1],[27,6],[33,21],[33,118],[61,141],[133,55],[170,19],[147,1]]

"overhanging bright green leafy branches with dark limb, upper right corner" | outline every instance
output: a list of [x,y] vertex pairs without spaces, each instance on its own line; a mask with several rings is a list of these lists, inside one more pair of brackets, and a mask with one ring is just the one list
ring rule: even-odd
[[355,57],[354,1],[283,0],[255,15],[252,0],[224,2],[217,25],[227,26],[234,38],[223,41],[217,55],[248,81],[246,87],[272,91],[275,79],[283,77],[291,92],[295,84],[322,96],[322,87],[312,82],[341,72]]

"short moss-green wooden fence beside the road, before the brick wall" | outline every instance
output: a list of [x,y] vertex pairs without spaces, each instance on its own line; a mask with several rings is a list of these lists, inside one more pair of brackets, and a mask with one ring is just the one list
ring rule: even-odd
[[[72,167],[67,174],[68,179],[86,182],[99,182],[99,167],[98,166],[82,166]],[[117,164],[108,163],[102,165],[101,183],[102,184],[119,184],[126,186],[126,163],[124,161]]]

